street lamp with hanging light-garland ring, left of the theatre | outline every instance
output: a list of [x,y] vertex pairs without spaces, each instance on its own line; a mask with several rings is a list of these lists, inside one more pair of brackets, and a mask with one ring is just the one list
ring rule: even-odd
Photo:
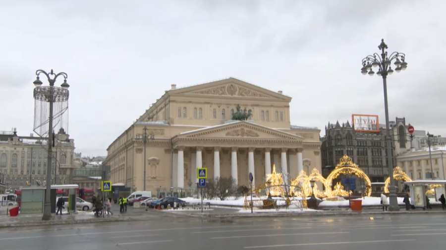
[[[39,75],[43,74],[47,77],[50,86],[42,86],[42,81],[39,79]],[[44,101],[49,103],[49,119],[48,119],[48,158],[47,158],[47,188],[45,190],[45,205],[44,205],[44,214],[42,216],[42,220],[50,220],[51,219],[51,161],[52,161],[52,148],[53,148],[53,104],[55,102],[64,102],[68,101],[69,91],[68,83],[66,83],[66,79],[68,75],[66,73],[60,72],[55,74],[53,70],[50,73],[47,73],[43,70],[36,71],[37,79],[34,81],[34,99],[39,101]],[[51,78],[52,76],[53,78]],[[63,83],[60,87],[54,86],[57,77],[62,76],[64,78]]]

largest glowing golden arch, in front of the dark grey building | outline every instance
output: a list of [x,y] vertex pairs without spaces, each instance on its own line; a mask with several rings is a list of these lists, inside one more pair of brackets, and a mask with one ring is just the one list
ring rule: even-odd
[[372,184],[367,174],[365,174],[364,171],[362,171],[356,164],[354,164],[351,161],[350,157],[344,155],[341,159],[339,159],[339,164],[336,165],[335,170],[333,170],[327,177],[327,182],[325,184],[327,197],[332,198],[335,196],[333,194],[331,186],[333,185],[333,179],[335,179],[340,174],[354,174],[359,178],[364,179],[366,189],[363,195],[370,196],[370,194],[372,193]]

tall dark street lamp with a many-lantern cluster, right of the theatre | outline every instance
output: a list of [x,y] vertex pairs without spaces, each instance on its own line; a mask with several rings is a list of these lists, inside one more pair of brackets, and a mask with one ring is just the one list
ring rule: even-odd
[[399,52],[392,52],[390,55],[385,51],[388,47],[387,44],[384,43],[384,39],[381,40],[381,44],[378,46],[381,50],[381,55],[378,53],[373,53],[373,55],[368,55],[364,59],[362,59],[362,68],[361,73],[363,75],[368,74],[369,76],[373,76],[375,72],[372,67],[378,67],[378,72],[376,73],[378,76],[383,78],[384,84],[384,106],[386,109],[386,129],[387,129],[387,160],[389,167],[389,178],[390,178],[390,187],[389,187],[389,200],[390,200],[390,211],[399,211],[398,201],[396,199],[396,188],[395,181],[393,179],[393,161],[392,161],[392,149],[391,149],[391,138],[390,138],[390,125],[389,125],[389,107],[387,102],[387,76],[393,73],[391,68],[391,62],[394,61],[394,65],[396,66],[395,71],[400,72],[401,70],[406,70],[407,63],[405,62],[405,54]]

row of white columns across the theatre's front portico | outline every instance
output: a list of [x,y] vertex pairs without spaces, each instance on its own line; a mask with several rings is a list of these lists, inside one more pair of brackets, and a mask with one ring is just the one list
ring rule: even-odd
[[[184,147],[179,146],[177,156],[173,154],[173,166],[176,165],[176,186],[179,188],[184,187]],[[238,185],[238,164],[237,164],[237,147],[231,148],[231,176],[235,179],[235,184]],[[220,147],[214,148],[214,178],[220,177]],[[255,148],[248,149],[248,172],[253,175],[253,185],[255,185],[255,168],[254,168],[254,150]],[[287,159],[286,152],[294,151],[294,149],[282,148],[280,154],[280,164],[282,171],[287,173]],[[192,166],[195,165],[194,173],[196,173],[197,168],[203,167],[202,158],[203,147],[197,147],[195,153],[195,158],[192,156]],[[271,148],[265,148],[265,174],[271,174]],[[293,152],[294,153],[294,152]],[[297,176],[300,171],[303,170],[303,158],[302,158],[302,148],[296,150],[296,154],[290,154],[290,170],[292,176]],[[277,164],[278,165],[278,164]],[[296,171],[294,171],[296,170]],[[195,176],[195,174],[193,174]],[[175,176],[173,175],[173,178]]]

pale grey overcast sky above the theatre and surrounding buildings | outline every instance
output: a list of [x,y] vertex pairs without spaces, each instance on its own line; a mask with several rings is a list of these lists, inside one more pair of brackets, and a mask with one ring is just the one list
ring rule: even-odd
[[[291,123],[384,123],[382,79],[361,59],[406,54],[390,119],[446,136],[446,1],[2,1],[0,130],[33,130],[35,71],[66,72],[76,152],[107,147],[175,83],[234,77],[291,96]],[[58,84],[61,84],[60,81]],[[48,83],[45,83],[48,84]],[[56,83],[57,84],[57,83]]]

